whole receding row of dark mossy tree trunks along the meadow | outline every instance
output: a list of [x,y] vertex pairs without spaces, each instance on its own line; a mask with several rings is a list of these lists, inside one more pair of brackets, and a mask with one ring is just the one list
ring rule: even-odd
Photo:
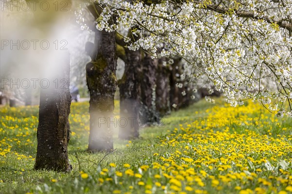
[[[133,36],[131,36],[133,37]],[[113,150],[112,132],[114,94],[120,88],[120,119],[127,124],[120,127],[119,138],[139,137],[139,127],[159,122],[161,115],[177,110],[190,102],[176,87],[180,81],[180,59],[165,65],[166,59],[152,59],[141,50],[124,49],[125,73],[116,79],[117,46],[115,32],[95,32],[94,44],[86,50],[91,62],[86,65],[86,80],[90,93],[90,136],[88,151]],[[122,45],[125,46],[125,45]],[[36,169],[70,171],[67,146],[70,140],[69,58],[58,68],[58,79],[68,80],[65,88],[41,90],[39,124],[37,128]],[[176,104],[175,106],[171,106]]]

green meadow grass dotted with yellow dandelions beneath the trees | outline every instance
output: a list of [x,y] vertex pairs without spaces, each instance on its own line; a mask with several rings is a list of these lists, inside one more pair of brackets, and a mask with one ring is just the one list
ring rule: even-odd
[[[27,121],[37,120],[37,106],[1,107],[0,193],[292,192],[292,119],[258,104],[231,108],[223,99],[202,100],[141,129],[131,142],[118,140],[115,129],[117,149],[104,159],[106,153],[86,152],[88,107],[72,103],[71,173],[34,170],[37,122]],[[18,126],[8,122],[17,119]],[[222,119],[224,125],[216,125]]]

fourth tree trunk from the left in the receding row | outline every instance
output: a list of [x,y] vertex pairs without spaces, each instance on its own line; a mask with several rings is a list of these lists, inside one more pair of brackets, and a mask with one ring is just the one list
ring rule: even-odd
[[141,125],[151,125],[159,122],[159,115],[155,107],[155,72],[157,63],[157,59],[151,59],[151,56],[145,53],[142,60],[142,75],[140,76],[142,109],[139,122]]

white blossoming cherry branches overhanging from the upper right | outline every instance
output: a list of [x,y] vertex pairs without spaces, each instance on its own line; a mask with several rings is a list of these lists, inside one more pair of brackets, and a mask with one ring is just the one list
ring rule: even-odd
[[[131,50],[182,57],[232,106],[258,100],[292,116],[292,0],[94,0],[98,30],[132,29]],[[112,18],[115,21],[112,21]],[[288,101],[288,106],[283,106]]]

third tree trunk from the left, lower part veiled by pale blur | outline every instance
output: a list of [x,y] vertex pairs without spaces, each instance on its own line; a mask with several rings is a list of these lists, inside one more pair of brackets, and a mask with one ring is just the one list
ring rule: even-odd
[[141,89],[139,74],[141,69],[141,51],[125,49],[125,73],[119,80],[120,88],[120,123],[119,138],[133,139],[139,137],[139,110]]

